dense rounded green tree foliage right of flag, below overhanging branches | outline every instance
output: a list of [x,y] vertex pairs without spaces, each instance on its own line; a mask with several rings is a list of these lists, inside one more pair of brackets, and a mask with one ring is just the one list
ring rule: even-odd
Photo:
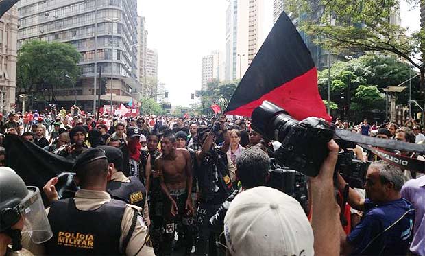
[[[370,111],[377,108],[384,111],[382,89],[388,86],[396,86],[408,80],[410,78],[409,69],[411,67],[404,62],[400,62],[396,56],[383,56],[382,54],[367,54],[350,61],[337,62],[330,69],[330,79],[332,81],[330,99],[337,104],[341,113],[343,107],[347,106],[348,103],[348,84],[350,79],[350,99],[352,102],[350,109]],[[411,75],[415,75],[413,70],[411,70]],[[319,72],[318,79],[319,93],[322,99],[326,99],[328,69]],[[360,86],[365,85],[374,86],[380,94],[379,97],[376,95],[376,97],[369,98],[369,100],[373,101],[371,104],[368,104],[369,102],[361,102],[359,97],[356,97]],[[366,86],[367,89],[372,90],[369,86]],[[403,86],[409,86],[409,84],[406,83]],[[367,89],[362,87],[362,90]],[[412,98],[420,99],[421,97],[419,78],[415,78],[412,80]],[[398,93],[397,100],[397,104],[407,104],[409,90],[406,89],[404,92]],[[356,104],[362,104],[362,108],[359,108]]]

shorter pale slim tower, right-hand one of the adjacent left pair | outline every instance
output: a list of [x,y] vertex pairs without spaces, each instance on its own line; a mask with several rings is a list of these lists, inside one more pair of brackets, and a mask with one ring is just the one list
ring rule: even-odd
[[156,100],[158,92],[158,51],[146,51],[146,86],[143,86],[143,95]]

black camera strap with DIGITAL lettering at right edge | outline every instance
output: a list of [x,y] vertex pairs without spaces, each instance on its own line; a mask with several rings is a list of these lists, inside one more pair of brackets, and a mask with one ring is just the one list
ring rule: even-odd
[[380,159],[387,161],[401,169],[425,173],[425,161],[420,161],[418,159],[413,159],[408,156],[402,156],[400,154],[394,154],[387,152],[382,148],[374,148],[367,145],[360,144],[362,148],[369,150],[370,152],[376,154]]

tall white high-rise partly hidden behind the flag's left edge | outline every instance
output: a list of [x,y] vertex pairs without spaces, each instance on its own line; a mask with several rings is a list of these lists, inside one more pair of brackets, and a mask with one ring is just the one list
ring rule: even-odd
[[226,11],[226,80],[242,78],[263,43],[263,5],[263,0],[229,0]]

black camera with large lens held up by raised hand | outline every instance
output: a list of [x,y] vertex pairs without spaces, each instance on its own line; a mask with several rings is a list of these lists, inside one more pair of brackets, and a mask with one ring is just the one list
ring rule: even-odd
[[267,139],[282,143],[274,152],[276,160],[307,176],[319,174],[321,163],[328,156],[327,143],[335,134],[335,127],[324,119],[308,117],[297,121],[267,101],[252,113],[252,128]]

